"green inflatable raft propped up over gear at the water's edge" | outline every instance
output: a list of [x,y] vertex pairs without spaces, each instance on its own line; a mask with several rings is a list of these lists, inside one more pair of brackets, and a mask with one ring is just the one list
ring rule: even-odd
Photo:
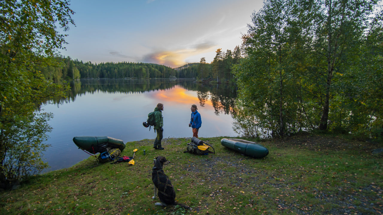
[[93,154],[104,152],[106,148],[119,148],[121,151],[125,148],[124,141],[106,136],[79,136],[74,137],[73,142],[80,149]]

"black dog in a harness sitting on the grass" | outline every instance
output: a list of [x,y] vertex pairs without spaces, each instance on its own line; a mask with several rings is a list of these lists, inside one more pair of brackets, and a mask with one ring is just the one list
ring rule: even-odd
[[154,166],[152,171],[152,181],[154,184],[154,196],[152,199],[157,197],[160,198],[161,202],[156,202],[155,205],[166,206],[166,205],[180,205],[183,208],[189,209],[188,206],[184,204],[178,204],[175,202],[175,192],[170,182],[169,177],[165,175],[164,170],[162,169],[164,165],[168,165],[170,161],[166,160],[163,156],[158,156],[154,159]]

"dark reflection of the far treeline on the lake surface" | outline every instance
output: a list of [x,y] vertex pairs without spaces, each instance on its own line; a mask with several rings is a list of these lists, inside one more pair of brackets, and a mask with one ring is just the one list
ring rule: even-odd
[[144,93],[154,90],[169,90],[175,86],[196,91],[201,107],[205,106],[210,96],[216,115],[233,113],[235,99],[237,97],[236,86],[197,84],[193,83],[190,79],[82,79],[81,81],[71,81],[67,98],[55,98],[53,103],[57,106],[70,103],[71,101],[75,101],[77,96],[87,93]]

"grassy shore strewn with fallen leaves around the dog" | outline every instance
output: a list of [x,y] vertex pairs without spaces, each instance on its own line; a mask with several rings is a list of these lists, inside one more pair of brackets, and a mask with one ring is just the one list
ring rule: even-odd
[[[135,164],[77,165],[34,176],[13,191],[0,192],[0,214],[382,214],[381,143],[331,135],[300,134],[259,142],[269,155],[254,159],[223,147],[223,137],[200,138],[216,154],[183,153],[190,138],[129,142],[122,155]],[[146,150],[146,155],[143,155]],[[153,158],[171,161],[164,171],[178,206],[152,200]]]

